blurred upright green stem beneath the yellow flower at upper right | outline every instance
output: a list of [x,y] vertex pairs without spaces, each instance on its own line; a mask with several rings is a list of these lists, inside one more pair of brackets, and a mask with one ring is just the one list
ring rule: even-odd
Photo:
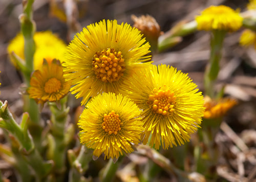
[[221,50],[225,35],[226,32],[221,30],[214,30],[211,34],[210,59],[204,75],[205,93],[211,98],[214,97],[214,82],[217,79],[220,69],[219,62],[221,60]]

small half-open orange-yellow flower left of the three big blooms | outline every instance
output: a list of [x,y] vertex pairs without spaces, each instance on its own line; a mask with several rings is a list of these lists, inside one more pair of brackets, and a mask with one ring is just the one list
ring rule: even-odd
[[62,66],[59,60],[51,64],[44,61],[40,70],[35,70],[30,79],[28,93],[37,103],[57,101],[64,97],[70,89],[68,82],[63,78]]

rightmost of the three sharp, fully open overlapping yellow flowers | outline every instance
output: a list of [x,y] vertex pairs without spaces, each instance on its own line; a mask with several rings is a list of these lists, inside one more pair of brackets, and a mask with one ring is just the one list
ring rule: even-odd
[[143,143],[151,138],[151,146],[167,149],[188,142],[200,127],[204,101],[187,74],[174,67],[152,65],[137,72],[131,81],[125,82],[122,90],[143,110]]

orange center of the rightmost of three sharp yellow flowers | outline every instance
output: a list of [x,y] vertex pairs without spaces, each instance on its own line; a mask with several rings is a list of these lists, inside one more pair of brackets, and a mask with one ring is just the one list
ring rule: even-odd
[[170,90],[153,89],[153,94],[148,96],[147,104],[157,114],[167,115],[174,112],[176,96]]

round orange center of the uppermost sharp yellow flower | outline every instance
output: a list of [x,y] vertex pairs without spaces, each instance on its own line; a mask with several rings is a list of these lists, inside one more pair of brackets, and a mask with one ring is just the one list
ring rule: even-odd
[[121,51],[114,48],[97,51],[93,57],[93,70],[97,79],[102,82],[115,82],[120,79],[125,70]]

